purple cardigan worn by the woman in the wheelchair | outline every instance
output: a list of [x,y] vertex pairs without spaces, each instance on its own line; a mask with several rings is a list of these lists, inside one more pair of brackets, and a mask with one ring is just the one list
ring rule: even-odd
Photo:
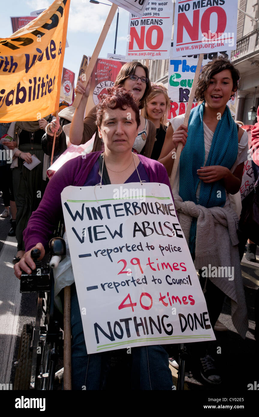
[[[39,242],[45,248],[48,247],[53,231],[63,215],[61,192],[69,185],[83,186],[100,154],[101,152],[93,152],[86,155],[85,158],[78,156],[71,159],[59,168],[51,178],[37,210],[33,211],[27,228],[23,232],[26,252]],[[143,155],[138,155],[138,158],[142,162],[150,182],[166,184],[171,190],[166,168],[160,162]]]

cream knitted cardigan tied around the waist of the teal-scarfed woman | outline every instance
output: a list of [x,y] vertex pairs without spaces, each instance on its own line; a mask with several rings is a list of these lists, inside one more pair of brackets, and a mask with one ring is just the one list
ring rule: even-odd
[[234,327],[245,338],[248,329],[246,300],[241,275],[236,234],[238,217],[230,207],[206,208],[192,201],[184,201],[174,188],[174,204],[187,243],[192,217],[197,218],[195,261],[196,269],[212,266],[234,266],[234,279],[209,277],[231,299],[231,316]]

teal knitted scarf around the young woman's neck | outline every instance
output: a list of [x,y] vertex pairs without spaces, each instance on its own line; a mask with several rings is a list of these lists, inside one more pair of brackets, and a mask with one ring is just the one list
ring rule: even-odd
[[[197,169],[204,166],[205,147],[203,114],[205,101],[192,109],[188,123],[188,138],[180,157],[179,195],[183,201],[194,201],[197,204],[196,191],[199,184]],[[238,134],[236,124],[228,106],[219,120],[205,166],[221,165],[229,168],[234,165],[238,151]],[[220,192],[219,192],[220,191]],[[226,203],[226,192],[223,181],[206,184],[201,181],[199,204],[204,207],[223,207]],[[195,243],[196,225],[192,222],[190,241]],[[191,251],[191,248],[190,248]]]

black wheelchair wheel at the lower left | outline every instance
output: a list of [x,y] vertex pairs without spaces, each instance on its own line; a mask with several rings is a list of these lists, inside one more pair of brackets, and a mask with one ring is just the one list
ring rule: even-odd
[[30,343],[30,334],[26,332],[26,324],[24,324],[20,339],[14,389],[30,389],[30,374],[33,356],[33,352],[30,351]]

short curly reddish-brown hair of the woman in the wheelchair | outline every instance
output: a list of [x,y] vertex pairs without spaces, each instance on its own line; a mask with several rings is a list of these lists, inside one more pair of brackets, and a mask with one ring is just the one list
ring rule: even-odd
[[102,95],[101,101],[96,107],[96,125],[101,127],[103,121],[103,112],[107,108],[112,110],[120,108],[126,110],[127,107],[131,107],[136,114],[137,128],[140,125],[139,109],[134,99],[133,94],[130,91],[125,90],[123,87],[107,88],[108,95]]

